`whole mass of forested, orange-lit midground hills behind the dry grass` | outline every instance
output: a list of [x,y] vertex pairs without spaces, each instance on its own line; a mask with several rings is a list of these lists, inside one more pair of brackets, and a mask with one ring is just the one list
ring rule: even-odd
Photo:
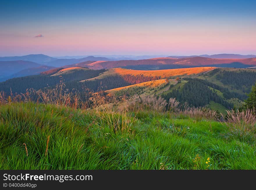
[[[159,59],[152,59],[159,60]],[[88,62],[92,64],[93,62]],[[104,63],[102,61],[97,63]],[[96,64],[97,64],[96,63]],[[0,91],[7,94],[25,93],[27,88],[55,88],[64,79],[65,88],[79,93],[84,100],[89,92],[111,93],[132,98],[161,96],[168,102],[176,98],[182,105],[225,109],[243,105],[251,86],[256,82],[256,70],[239,68],[192,67],[167,70],[131,70],[111,68],[54,68],[40,75],[9,79],[0,83]]]

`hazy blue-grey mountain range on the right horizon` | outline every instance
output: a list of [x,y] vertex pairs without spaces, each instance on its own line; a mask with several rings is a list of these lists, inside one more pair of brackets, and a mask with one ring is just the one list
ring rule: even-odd
[[214,54],[214,55],[190,55],[190,56],[169,56],[170,58],[189,58],[189,57],[207,57],[213,59],[246,59],[254,58],[256,55],[240,55],[240,54]]

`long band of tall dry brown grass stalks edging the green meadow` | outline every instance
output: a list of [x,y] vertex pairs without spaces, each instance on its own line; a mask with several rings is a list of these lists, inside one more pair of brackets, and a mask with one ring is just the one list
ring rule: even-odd
[[[128,100],[126,95],[116,97],[112,93],[106,94],[105,91],[93,92],[89,88],[83,89],[86,98],[82,100],[81,93],[77,93],[75,89],[71,91],[65,88],[63,79],[56,85],[56,88],[45,88],[35,90],[33,88],[26,91],[26,93],[15,94],[11,92],[10,97],[6,96],[6,93],[0,93],[0,104],[11,104],[12,102],[42,102],[43,104],[54,104],[57,106],[65,106],[72,108],[94,108],[96,112],[99,111],[157,111],[165,112],[170,111],[172,114],[182,114],[189,117],[196,117],[198,120],[202,117],[209,119],[217,119],[218,114],[216,111],[212,111],[206,108],[194,108],[189,107],[186,103],[181,105],[176,98],[170,98],[167,103],[162,97],[156,96],[143,96],[134,95]],[[52,114],[51,114],[52,116]]]

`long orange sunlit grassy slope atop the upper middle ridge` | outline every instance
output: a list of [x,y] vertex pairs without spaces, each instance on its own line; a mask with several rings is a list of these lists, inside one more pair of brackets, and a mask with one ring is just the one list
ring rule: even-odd
[[111,75],[112,76],[114,75],[159,76],[162,79],[164,79],[167,77],[177,76],[177,75],[192,75],[192,74],[205,73],[205,72],[214,70],[215,68],[216,67],[193,67],[193,68],[179,68],[179,69],[165,69],[165,70],[131,70],[131,69],[124,69],[124,68],[112,68],[102,73],[101,75],[88,80],[101,79]]

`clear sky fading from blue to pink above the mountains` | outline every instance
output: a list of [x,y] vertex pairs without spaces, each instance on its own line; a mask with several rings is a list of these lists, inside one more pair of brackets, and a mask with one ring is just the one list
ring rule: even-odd
[[0,56],[256,54],[256,1],[1,1]]

